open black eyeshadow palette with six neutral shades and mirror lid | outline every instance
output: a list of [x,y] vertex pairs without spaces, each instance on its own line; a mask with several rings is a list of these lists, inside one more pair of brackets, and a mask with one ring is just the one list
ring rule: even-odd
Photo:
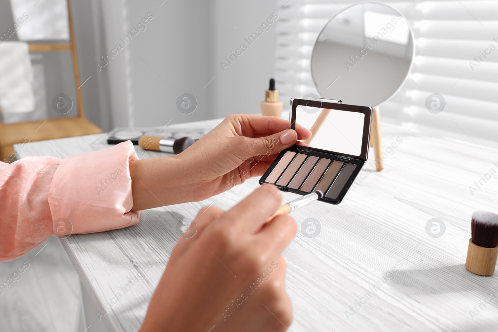
[[312,132],[311,139],[283,150],[259,180],[283,191],[338,204],[367,161],[372,109],[333,102],[292,99],[290,123]]

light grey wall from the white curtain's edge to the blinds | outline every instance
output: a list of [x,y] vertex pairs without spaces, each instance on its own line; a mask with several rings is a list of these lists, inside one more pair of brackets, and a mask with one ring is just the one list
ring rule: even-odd
[[[274,73],[263,55],[274,62],[275,25],[270,25],[270,30],[250,46],[244,38],[276,11],[276,1],[161,3],[162,0],[125,2],[128,30],[147,12],[154,15],[127,50],[130,123],[162,125],[169,120],[178,123],[258,112],[268,79]],[[220,62],[241,43],[246,43],[248,49],[224,71]],[[177,110],[176,100],[183,93],[192,94],[198,102],[191,114]]]

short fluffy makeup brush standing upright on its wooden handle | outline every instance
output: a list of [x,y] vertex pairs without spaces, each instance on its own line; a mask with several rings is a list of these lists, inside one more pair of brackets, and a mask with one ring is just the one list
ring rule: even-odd
[[472,238],[469,240],[465,267],[474,274],[492,275],[498,254],[498,215],[476,211],[472,214],[471,225]]

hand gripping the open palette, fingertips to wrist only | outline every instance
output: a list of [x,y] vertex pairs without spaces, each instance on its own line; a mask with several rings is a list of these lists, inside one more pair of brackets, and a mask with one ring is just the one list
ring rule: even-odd
[[308,129],[297,124],[294,131],[278,117],[234,114],[178,157],[195,174],[195,200],[202,201],[263,175],[280,151],[309,137]]

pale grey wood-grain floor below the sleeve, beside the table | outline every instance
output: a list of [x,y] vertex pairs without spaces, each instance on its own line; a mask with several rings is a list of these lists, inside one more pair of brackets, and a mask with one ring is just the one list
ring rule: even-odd
[[0,283],[8,278],[15,281],[0,289],[0,332],[84,330],[78,330],[80,280],[58,238],[52,236],[24,256],[1,262]]

